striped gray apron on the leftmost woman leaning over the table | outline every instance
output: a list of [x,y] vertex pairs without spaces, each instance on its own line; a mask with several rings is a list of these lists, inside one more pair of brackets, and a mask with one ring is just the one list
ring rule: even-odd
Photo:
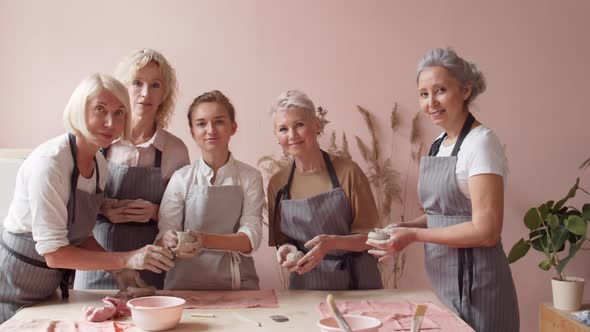
[[[71,134],[68,139],[74,170],[67,205],[67,238],[70,245],[77,246],[92,233],[103,193],[96,159],[96,192],[87,193],[78,189],[80,172],[76,160],[76,140]],[[74,271],[49,268],[45,258],[35,250],[32,233],[14,234],[5,230],[0,245],[0,322],[6,321],[21,308],[52,296],[58,287],[62,298],[68,298]]]

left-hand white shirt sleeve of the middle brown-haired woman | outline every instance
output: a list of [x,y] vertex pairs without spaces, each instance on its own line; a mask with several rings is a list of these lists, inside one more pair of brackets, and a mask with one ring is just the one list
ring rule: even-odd
[[159,221],[158,221],[158,241],[166,231],[182,231],[182,221],[184,219],[185,192],[189,185],[189,178],[185,179],[184,170],[178,170],[172,175],[162,202],[160,202]]

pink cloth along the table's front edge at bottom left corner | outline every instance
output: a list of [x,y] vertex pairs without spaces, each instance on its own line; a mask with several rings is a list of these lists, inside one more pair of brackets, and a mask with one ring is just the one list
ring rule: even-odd
[[131,323],[119,322],[73,322],[63,320],[32,319],[18,320],[9,319],[0,325],[0,331],[14,332],[121,332],[132,327]]

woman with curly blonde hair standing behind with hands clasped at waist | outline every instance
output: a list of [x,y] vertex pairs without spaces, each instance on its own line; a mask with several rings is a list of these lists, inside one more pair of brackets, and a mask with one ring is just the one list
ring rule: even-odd
[[[115,73],[131,98],[130,134],[107,147],[106,199],[94,229],[108,251],[128,251],[154,242],[159,204],[177,169],[189,163],[181,139],[164,128],[174,110],[176,75],[162,54],[151,49],[134,52]],[[163,275],[142,271],[147,284],[161,289]],[[77,272],[74,288],[112,289],[107,271]]]

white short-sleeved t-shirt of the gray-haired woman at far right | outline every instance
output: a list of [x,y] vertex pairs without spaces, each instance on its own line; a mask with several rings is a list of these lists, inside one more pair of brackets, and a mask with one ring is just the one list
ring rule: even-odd
[[[438,138],[442,136],[443,134]],[[440,145],[437,157],[448,157],[453,152],[455,144],[445,146],[445,141],[446,139]],[[498,174],[504,179],[504,185],[508,175],[508,161],[504,147],[498,136],[484,125],[471,129],[457,154],[455,175],[459,190],[465,197],[471,198],[468,178],[478,174]]]

